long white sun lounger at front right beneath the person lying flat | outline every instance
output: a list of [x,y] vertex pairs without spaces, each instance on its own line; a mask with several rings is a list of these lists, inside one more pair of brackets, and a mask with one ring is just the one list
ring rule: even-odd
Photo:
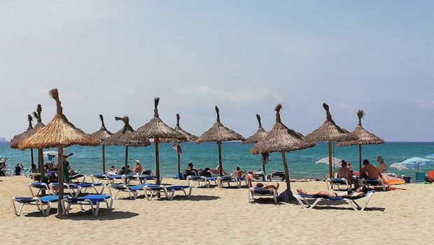
[[[365,210],[365,207],[371,200],[372,195],[374,195],[375,191],[370,190],[365,195],[361,197],[313,197],[311,195],[300,195],[295,194],[294,197],[297,200],[298,203],[302,206],[303,209],[313,209],[317,204],[319,204],[323,200],[328,201],[344,201],[347,204],[350,204],[351,207],[356,211],[363,211]],[[360,206],[356,200],[365,199],[365,203]],[[312,204],[310,204],[309,201],[313,201]]]

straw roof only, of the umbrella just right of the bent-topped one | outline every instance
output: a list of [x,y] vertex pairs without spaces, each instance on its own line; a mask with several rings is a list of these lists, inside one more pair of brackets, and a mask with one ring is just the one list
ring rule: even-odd
[[176,132],[172,127],[167,126],[158,116],[158,103],[160,98],[154,98],[154,118],[146,123],[145,125],[139,127],[136,131],[132,133],[132,139],[151,139],[151,138],[169,138],[169,139],[179,139],[181,141],[186,141],[187,137],[181,132]]

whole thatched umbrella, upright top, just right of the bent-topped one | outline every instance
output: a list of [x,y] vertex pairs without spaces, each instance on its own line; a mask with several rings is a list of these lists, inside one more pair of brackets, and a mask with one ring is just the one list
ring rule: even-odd
[[[132,133],[133,139],[154,139],[155,144],[155,172],[157,177],[157,184],[160,185],[160,153],[158,151],[158,144],[160,139],[178,139],[180,141],[186,141],[187,137],[181,132],[176,132],[172,127],[167,126],[160,119],[158,115],[158,103],[160,98],[154,98],[154,118],[151,119],[145,125],[139,127]],[[158,195],[160,197],[160,195]]]

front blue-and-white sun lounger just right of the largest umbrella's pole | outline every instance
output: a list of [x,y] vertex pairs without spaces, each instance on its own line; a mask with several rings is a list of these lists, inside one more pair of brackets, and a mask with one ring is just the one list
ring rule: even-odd
[[102,202],[106,203],[107,209],[112,209],[113,197],[111,195],[85,195],[84,197],[78,198],[65,197],[64,199],[62,199],[62,208],[64,210],[64,214],[67,215],[71,210],[72,204],[80,205],[81,211],[85,211],[84,206],[88,205],[90,206],[92,214],[94,216],[97,216],[99,212],[99,204],[101,204]]

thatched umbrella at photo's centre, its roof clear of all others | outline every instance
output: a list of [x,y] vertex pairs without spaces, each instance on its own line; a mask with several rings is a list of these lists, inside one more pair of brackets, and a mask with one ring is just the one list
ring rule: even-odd
[[195,140],[195,144],[200,144],[202,142],[212,142],[216,141],[218,145],[218,166],[220,169],[220,176],[223,176],[223,164],[221,158],[221,142],[222,141],[244,141],[244,137],[238,134],[234,130],[228,129],[228,127],[223,126],[220,123],[220,113],[218,107],[216,106],[217,121],[212,127],[204,132],[199,138]]

